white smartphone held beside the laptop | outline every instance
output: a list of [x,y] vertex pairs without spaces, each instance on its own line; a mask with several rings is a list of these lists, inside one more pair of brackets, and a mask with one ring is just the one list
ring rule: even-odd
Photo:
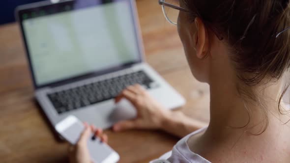
[[[75,116],[70,115],[55,126],[57,132],[71,144],[76,144],[85,129],[84,124]],[[100,138],[92,136],[87,141],[87,147],[93,163],[116,163],[119,155]]]

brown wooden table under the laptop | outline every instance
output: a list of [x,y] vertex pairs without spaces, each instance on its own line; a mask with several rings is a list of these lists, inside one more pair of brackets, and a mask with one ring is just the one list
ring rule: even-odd
[[[137,3],[148,63],[186,98],[182,111],[208,122],[208,86],[192,77],[176,27],[166,22],[157,0]],[[105,132],[109,145],[120,154],[120,163],[148,163],[178,141],[161,131]],[[66,163],[66,148],[33,98],[18,26],[0,26],[0,162]]]

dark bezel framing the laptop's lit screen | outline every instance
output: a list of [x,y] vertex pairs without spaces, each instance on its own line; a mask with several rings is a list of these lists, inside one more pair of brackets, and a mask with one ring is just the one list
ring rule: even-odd
[[[104,0],[99,0],[101,3],[97,4],[97,5],[103,5],[107,2],[103,2]],[[108,1],[108,0],[107,0]],[[117,0],[120,1],[120,0]],[[53,82],[49,82],[49,83],[45,83],[45,84],[37,84],[36,82],[36,78],[35,78],[35,74],[34,74],[34,70],[32,67],[32,61],[31,61],[31,56],[29,54],[29,48],[28,48],[28,42],[27,42],[27,38],[24,32],[24,27],[23,27],[23,18],[22,15],[24,13],[29,13],[32,11],[39,11],[42,9],[47,9],[47,8],[55,8],[55,7],[59,7],[62,5],[66,5],[66,4],[71,4],[74,3],[75,0],[64,0],[64,1],[60,1],[58,3],[52,3],[50,0],[47,1],[41,1],[41,2],[36,2],[36,3],[31,3],[31,4],[27,4],[27,5],[22,5],[19,6],[15,9],[15,15],[16,15],[16,19],[20,25],[21,28],[21,33],[22,33],[22,38],[23,38],[23,42],[25,45],[25,50],[26,50],[26,55],[29,61],[29,69],[30,69],[30,73],[32,76],[32,80],[33,80],[33,86],[34,89],[39,89],[39,88],[43,88],[43,87],[54,87],[54,86],[58,86],[58,85],[62,85],[62,84],[66,84],[66,83],[71,83],[74,81],[80,81],[80,80],[84,80],[87,78],[92,78],[92,77],[96,77],[102,74],[106,74],[106,73],[110,73],[110,72],[114,72],[117,70],[122,70],[122,69],[126,69],[136,63],[141,63],[144,61],[144,47],[143,47],[143,42],[142,42],[142,36],[141,36],[141,32],[140,32],[140,26],[139,26],[139,20],[138,20],[138,14],[136,11],[136,4],[134,2],[134,0],[123,0],[123,1],[128,1],[130,2],[130,10],[131,10],[131,16],[132,16],[132,21],[134,24],[134,32],[135,32],[135,37],[137,40],[137,45],[138,46],[138,58],[136,60],[133,60],[132,62],[129,63],[124,63],[121,65],[117,65],[114,67],[110,67],[108,69],[104,69],[104,70],[94,70],[92,72],[88,72],[82,75],[77,75],[75,77],[71,77],[71,78],[67,78],[67,79],[61,79],[58,81],[53,81]],[[114,3],[115,1],[112,0],[112,3]],[[86,8],[86,7],[90,7],[90,5],[87,6],[82,6],[82,8]],[[80,8],[76,8],[73,10],[78,10]]]

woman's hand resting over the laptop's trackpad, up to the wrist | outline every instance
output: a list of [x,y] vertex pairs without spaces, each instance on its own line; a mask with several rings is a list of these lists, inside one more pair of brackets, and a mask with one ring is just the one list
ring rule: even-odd
[[127,87],[116,97],[116,103],[122,98],[129,100],[137,109],[137,118],[118,122],[114,131],[128,129],[161,129],[162,123],[171,111],[164,109],[140,85]]

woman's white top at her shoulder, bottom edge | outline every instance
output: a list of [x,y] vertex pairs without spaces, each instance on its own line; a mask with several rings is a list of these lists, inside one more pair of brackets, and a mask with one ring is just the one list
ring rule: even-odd
[[200,155],[189,149],[187,140],[194,135],[202,133],[206,128],[197,130],[188,136],[183,137],[174,145],[173,150],[161,156],[158,160],[150,163],[210,163]]

